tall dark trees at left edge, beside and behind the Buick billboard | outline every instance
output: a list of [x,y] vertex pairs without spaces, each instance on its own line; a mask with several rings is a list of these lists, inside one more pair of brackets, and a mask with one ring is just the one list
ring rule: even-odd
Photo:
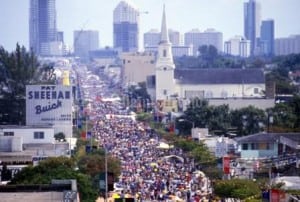
[[[25,91],[28,84],[52,83],[54,69],[52,66],[41,66],[32,52],[16,45],[12,53],[0,47],[0,123],[25,124]],[[3,70],[5,69],[5,71]]]

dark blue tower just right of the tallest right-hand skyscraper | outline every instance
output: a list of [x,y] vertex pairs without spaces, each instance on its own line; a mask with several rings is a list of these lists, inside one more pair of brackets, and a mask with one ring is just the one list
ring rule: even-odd
[[274,55],[274,20],[262,21],[259,41],[263,55]]

